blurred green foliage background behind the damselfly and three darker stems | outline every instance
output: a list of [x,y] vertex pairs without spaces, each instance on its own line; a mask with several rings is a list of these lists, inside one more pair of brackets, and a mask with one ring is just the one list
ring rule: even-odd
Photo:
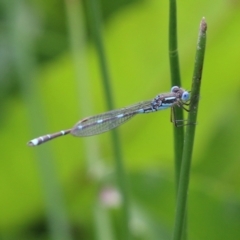
[[[119,239],[110,134],[26,146],[34,137],[106,111],[85,5],[0,1],[0,239]],[[171,88],[168,10],[168,1],[101,2],[116,108]],[[189,189],[189,239],[240,239],[240,2],[178,3],[186,89],[203,16],[207,48]],[[170,111],[146,114],[119,128],[135,239],[172,235],[169,118]],[[65,235],[49,230],[59,224]]]

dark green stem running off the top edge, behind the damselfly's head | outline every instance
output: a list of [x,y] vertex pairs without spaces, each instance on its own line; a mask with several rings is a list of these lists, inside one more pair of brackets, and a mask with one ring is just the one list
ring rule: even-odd
[[[177,4],[176,0],[169,1],[169,60],[171,71],[172,86],[181,87],[181,78],[179,70],[178,59],[178,45],[177,45]],[[175,119],[183,119],[183,110],[181,108],[174,109]],[[175,159],[175,182],[176,189],[178,188],[179,173],[182,161],[184,128],[173,128],[174,133],[174,159]]]

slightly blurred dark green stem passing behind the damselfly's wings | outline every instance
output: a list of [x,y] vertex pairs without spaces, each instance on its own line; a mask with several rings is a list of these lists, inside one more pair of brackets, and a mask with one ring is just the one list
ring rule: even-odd
[[[106,102],[108,109],[114,109],[114,100],[111,94],[111,86],[110,86],[110,76],[107,67],[107,60],[106,54],[104,50],[104,45],[101,36],[101,16],[98,6],[98,1],[96,0],[89,0],[87,1],[88,4],[88,12],[90,15],[90,22],[91,28],[94,34],[94,40],[96,43],[96,49],[99,57],[99,64],[100,69],[102,72],[102,80],[103,80],[103,87],[105,90]],[[123,165],[123,157],[121,151],[121,145],[119,140],[119,135],[117,130],[111,131],[112,134],[112,144],[113,144],[113,151],[115,154],[116,160],[116,172],[118,178],[118,184],[122,196],[122,238],[125,240],[130,238],[129,233],[129,203],[128,203],[128,196],[127,196],[127,184],[126,184],[126,174]]]

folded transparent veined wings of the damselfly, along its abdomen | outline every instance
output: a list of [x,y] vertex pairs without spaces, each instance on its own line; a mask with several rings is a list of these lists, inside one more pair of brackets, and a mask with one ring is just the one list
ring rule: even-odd
[[151,100],[112,110],[79,121],[71,130],[78,137],[97,135],[120,126],[138,113],[152,109]]

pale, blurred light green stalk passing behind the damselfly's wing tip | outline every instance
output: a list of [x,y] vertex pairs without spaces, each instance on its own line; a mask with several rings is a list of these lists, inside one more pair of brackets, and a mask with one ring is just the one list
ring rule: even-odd
[[[92,114],[92,98],[90,94],[90,81],[87,74],[86,61],[86,31],[84,23],[83,3],[80,0],[65,0],[66,14],[68,19],[69,44],[72,53],[72,61],[76,74],[76,82],[79,91],[79,105],[84,116]],[[81,66],[81,67],[80,67]],[[86,102],[88,104],[86,104]],[[94,151],[92,150],[94,146]],[[95,169],[104,163],[100,159],[99,144],[97,138],[84,139],[85,158],[87,169],[95,173]],[[99,163],[100,162],[100,163]],[[93,175],[96,181],[99,180],[99,174]],[[95,236],[98,240],[114,239],[112,224],[110,223],[109,214],[101,202],[95,201],[93,207],[93,219]]]

